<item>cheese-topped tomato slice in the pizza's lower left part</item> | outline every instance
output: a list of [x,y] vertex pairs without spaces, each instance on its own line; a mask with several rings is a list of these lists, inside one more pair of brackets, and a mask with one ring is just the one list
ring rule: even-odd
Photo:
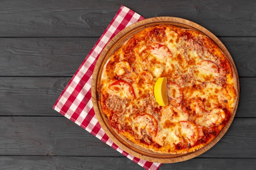
[[148,135],[156,137],[158,124],[155,117],[149,114],[143,114],[137,115],[133,119],[141,129],[146,129],[149,133]]

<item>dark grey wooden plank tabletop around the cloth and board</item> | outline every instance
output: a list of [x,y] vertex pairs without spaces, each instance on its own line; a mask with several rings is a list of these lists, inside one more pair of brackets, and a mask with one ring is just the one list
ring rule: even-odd
[[256,169],[256,2],[8,0],[0,2],[0,169],[143,169],[52,109],[121,5],[173,16],[214,33],[231,53],[240,102],[204,154],[159,170]]

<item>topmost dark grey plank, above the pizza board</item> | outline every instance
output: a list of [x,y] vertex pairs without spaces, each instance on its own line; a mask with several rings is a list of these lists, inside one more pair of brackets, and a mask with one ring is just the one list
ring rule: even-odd
[[100,36],[122,4],[145,18],[185,18],[218,36],[256,36],[254,0],[8,0],[1,2],[0,36]]

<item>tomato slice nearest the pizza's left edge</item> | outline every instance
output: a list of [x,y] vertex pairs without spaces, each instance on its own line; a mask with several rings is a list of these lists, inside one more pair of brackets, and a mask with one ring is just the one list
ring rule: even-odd
[[125,80],[114,80],[108,85],[108,88],[114,93],[119,93],[119,95],[120,92],[124,91],[128,98],[136,98],[132,85]]

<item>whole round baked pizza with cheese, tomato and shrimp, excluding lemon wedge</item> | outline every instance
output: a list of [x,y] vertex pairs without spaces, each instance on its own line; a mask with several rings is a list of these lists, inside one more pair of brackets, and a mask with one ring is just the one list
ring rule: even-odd
[[[166,79],[165,105],[154,94]],[[231,63],[210,38],[172,25],[145,27],[107,60],[102,112],[119,135],[161,154],[203,148],[227,124],[237,100]]]

